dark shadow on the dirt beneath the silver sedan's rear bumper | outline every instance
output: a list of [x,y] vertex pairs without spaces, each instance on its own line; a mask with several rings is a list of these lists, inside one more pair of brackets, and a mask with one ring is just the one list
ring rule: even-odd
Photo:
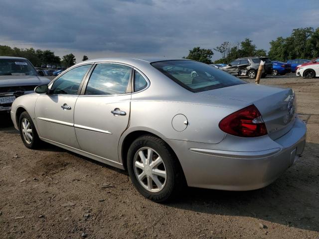
[[252,217],[319,232],[318,152],[319,144],[307,143],[295,165],[265,188],[242,192],[186,188],[181,199],[167,206],[211,215]]

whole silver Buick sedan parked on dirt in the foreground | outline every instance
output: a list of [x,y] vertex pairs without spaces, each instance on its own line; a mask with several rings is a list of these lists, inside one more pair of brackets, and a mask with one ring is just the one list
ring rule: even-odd
[[43,140],[126,169],[157,202],[183,185],[265,187],[306,141],[292,89],[249,84],[185,59],[81,62],[16,99],[11,118],[26,147]]

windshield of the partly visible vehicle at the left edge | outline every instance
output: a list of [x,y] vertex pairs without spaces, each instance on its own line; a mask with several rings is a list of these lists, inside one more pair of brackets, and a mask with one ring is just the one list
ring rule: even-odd
[[0,76],[32,75],[37,73],[28,60],[0,59]]

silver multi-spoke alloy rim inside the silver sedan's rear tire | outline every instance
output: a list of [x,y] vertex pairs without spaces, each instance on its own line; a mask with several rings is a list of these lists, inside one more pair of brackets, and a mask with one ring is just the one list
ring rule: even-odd
[[139,183],[150,192],[159,192],[166,183],[166,168],[152,148],[140,148],[134,156],[134,172]]

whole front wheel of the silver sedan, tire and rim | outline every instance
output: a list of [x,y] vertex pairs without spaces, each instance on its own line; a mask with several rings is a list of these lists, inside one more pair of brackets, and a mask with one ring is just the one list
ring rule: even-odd
[[31,117],[27,112],[23,112],[19,118],[19,130],[23,144],[27,148],[37,148],[41,140],[35,130]]

